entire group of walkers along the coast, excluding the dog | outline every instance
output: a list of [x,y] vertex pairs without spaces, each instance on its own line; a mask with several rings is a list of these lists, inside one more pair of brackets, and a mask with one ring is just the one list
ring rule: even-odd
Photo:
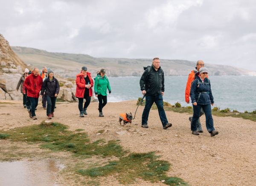
[[[76,75],[76,97],[79,100],[79,117],[87,115],[87,109],[93,96],[93,86],[95,96],[99,100],[99,117],[104,117],[102,109],[107,104],[107,89],[111,94],[110,83],[105,73],[105,69],[101,69],[97,72],[93,82],[90,72],[87,72],[87,67],[83,66],[81,72]],[[211,105],[214,105],[214,100],[208,73],[208,69],[204,67],[204,61],[198,60],[195,69],[189,74],[186,84],[185,100],[186,103],[189,103],[190,97],[193,105],[193,116],[189,117],[189,120],[191,122],[191,131],[194,135],[199,135],[199,132],[203,132],[199,119],[203,114],[206,116],[206,127],[210,135],[215,136],[218,134],[218,131],[213,126]],[[38,68],[35,68],[30,75],[29,70],[25,69],[24,74],[20,77],[17,89],[20,85],[23,93],[23,106],[24,108],[27,107],[29,117],[34,120],[37,119],[35,109],[38,106],[40,94],[43,107],[47,109],[48,119],[54,117],[55,102],[60,86],[51,69],[44,67],[40,75]],[[160,67],[160,59],[158,57],[155,57],[152,60],[152,65],[148,66],[143,72],[140,78],[140,89],[145,96],[145,108],[142,114],[141,126],[148,128],[148,115],[151,106],[155,103],[163,129],[171,127],[172,123],[168,122],[163,108],[164,72]],[[44,100],[46,100],[47,106]]]

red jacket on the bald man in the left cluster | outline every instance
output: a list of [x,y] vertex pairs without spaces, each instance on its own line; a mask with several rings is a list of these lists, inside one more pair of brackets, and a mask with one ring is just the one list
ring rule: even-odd
[[42,84],[43,79],[40,75],[35,76],[34,73],[30,74],[23,83],[27,90],[27,96],[38,98]]

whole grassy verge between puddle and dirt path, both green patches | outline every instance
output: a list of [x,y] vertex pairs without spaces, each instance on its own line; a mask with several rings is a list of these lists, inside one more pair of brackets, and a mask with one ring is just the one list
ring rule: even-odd
[[[90,178],[90,183],[98,184],[97,177],[112,175],[123,184],[134,183],[137,178],[141,178],[152,183],[162,181],[171,186],[187,185],[178,177],[168,177],[166,172],[170,164],[159,160],[154,152],[128,153],[117,140],[90,142],[87,134],[81,131],[82,129],[69,131],[67,126],[61,123],[42,122],[39,125],[20,127],[7,132],[0,131],[0,139],[38,144],[52,151],[68,151],[80,159],[93,155],[102,158],[116,157],[117,160],[107,160],[107,165],[104,166],[95,165],[86,169],[78,166],[73,170],[74,173]],[[101,132],[104,131],[99,131]]]

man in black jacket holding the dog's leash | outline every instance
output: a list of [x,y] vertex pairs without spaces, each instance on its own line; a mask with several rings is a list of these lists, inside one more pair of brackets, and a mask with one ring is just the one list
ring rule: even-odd
[[145,94],[146,104],[142,114],[142,127],[148,128],[148,114],[153,103],[156,103],[163,129],[172,126],[168,123],[163,109],[164,74],[160,67],[160,60],[155,57],[152,66],[148,67],[140,78],[140,90]]

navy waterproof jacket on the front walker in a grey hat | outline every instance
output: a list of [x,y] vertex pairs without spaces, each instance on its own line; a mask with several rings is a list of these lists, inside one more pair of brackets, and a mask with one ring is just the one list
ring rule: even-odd
[[200,105],[214,103],[210,80],[205,78],[203,83],[201,78],[196,76],[191,84],[190,98],[192,103],[196,102]]

